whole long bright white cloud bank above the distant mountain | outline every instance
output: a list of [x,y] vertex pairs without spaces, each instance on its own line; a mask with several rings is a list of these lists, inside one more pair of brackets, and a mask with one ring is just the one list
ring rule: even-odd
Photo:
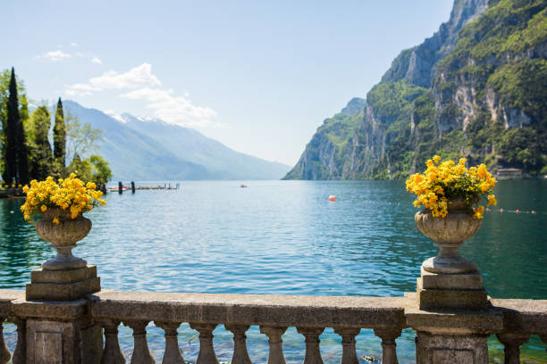
[[143,101],[154,117],[184,127],[227,126],[215,122],[216,112],[209,107],[197,106],[189,100],[188,92],[175,95],[172,89],[161,87],[162,82],[152,73],[150,63],[142,63],[127,72],[109,70],[101,76],[89,79],[88,83],[74,84],[65,95],[91,95],[97,91],[127,90],[123,98]]

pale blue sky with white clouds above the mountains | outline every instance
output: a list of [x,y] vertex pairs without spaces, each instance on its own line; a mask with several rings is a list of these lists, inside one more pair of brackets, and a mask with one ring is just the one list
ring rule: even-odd
[[160,117],[293,165],[452,0],[11,1],[0,68],[29,97]]

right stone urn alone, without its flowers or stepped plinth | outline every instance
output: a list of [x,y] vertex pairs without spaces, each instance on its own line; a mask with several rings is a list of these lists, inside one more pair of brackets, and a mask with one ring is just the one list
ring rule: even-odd
[[439,247],[436,257],[424,261],[422,268],[430,273],[462,274],[476,271],[476,264],[458,253],[464,241],[474,236],[483,219],[473,218],[473,209],[465,200],[449,201],[446,218],[433,218],[429,209],[418,211],[416,226],[425,236],[431,237]]

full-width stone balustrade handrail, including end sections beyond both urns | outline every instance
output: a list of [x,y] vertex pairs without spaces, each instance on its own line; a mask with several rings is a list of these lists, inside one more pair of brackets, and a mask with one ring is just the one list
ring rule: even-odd
[[[88,314],[93,318],[405,328],[408,326],[404,310],[413,307],[414,297],[412,294],[407,297],[371,297],[103,290],[89,294],[88,300],[43,302],[27,301],[23,290],[0,289],[0,317],[40,317],[52,315],[54,310],[66,315],[69,312],[66,309],[81,302],[90,304]],[[504,330],[547,333],[547,300],[490,299],[490,302],[492,309],[503,314]],[[60,309],[63,307],[65,310]],[[79,315],[86,309],[71,310],[73,315]]]

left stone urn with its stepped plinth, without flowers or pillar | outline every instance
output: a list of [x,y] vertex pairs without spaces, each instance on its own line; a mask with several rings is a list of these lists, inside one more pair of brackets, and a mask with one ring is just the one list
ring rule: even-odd
[[[53,222],[59,219],[59,224]],[[97,267],[72,255],[76,243],[91,230],[91,220],[83,216],[71,219],[69,211],[49,209],[38,221],[38,236],[51,243],[57,256],[30,273],[27,300],[76,301],[101,290]]]

